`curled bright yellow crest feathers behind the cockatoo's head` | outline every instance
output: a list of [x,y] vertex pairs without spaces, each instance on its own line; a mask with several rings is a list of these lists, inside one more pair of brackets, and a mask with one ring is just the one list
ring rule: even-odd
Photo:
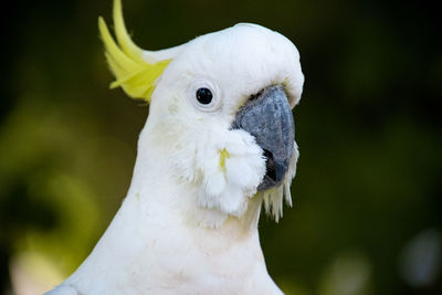
[[103,18],[98,18],[98,29],[106,49],[106,60],[116,77],[116,81],[110,84],[110,88],[122,86],[130,97],[150,102],[156,81],[170,60],[148,63],[143,59],[144,51],[134,44],[127,33],[120,0],[114,0],[114,25],[118,44],[112,38]]

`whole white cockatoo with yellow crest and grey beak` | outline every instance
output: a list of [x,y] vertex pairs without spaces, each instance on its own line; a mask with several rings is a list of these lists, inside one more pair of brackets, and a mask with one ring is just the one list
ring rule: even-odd
[[282,294],[260,246],[262,203],[276,221],[298,157],[292,108],[304,76],[295,45],[240,23],[167,50],[98,27],[116,81],[150,104],[134,176],[90,256],[48,294]]

